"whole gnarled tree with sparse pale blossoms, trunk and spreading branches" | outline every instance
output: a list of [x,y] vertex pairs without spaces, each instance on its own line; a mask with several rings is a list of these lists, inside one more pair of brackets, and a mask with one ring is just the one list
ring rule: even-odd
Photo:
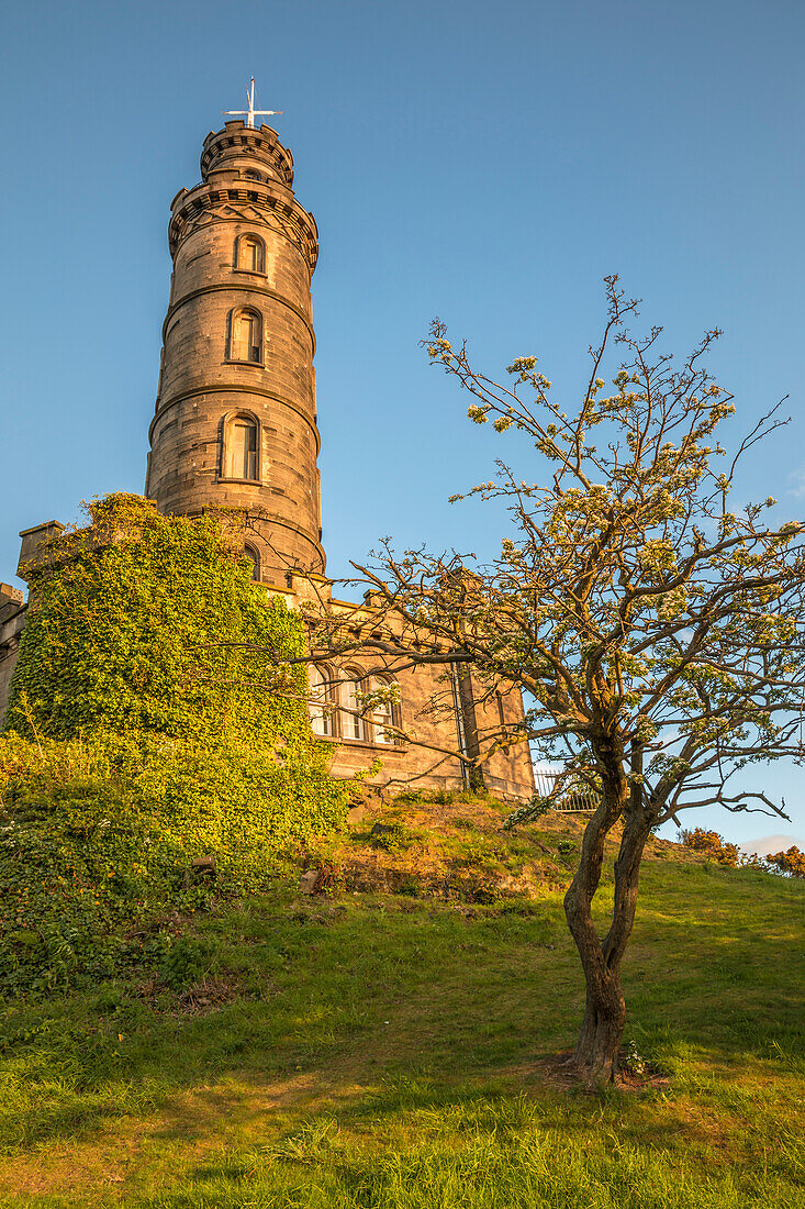
[[[784,423],[780,404],[728,455],[714,433],[732,395],[703,365],[719,331],[676,365],[659,352],[661,329],[630,334],[637,303],[616,277],[606,284],[603,337],[567,411],[537,358],[519,358],[509,384],[497,383],[433,323],[428,354],[475,397],[469,418],[525,434],[540,468],[522,480],[499,461],[494,481],[468,492],[508,504],[511,531],[492,563],[396,556],[386,543],[371,566],[354,565],[371,591],[371,629],[355,635],[353,619],[320,611],[312,631],[314,658],[360,647],[386,669],[458,665],[490,689],[517,686],[525,723],[487,734],[475,764],[529,742],[563,762],[558,788],[595,792],[564,897],[586,979],[575,1063],[589,1084],[618,1069],[621,961],[648,835],[714,804],[786,817],[784,803],[735,777],[805,751],[804,526],[769,526],[771,498],[728,508],[741,461]],[[601,374],[613,353],[622,364],[608,393]],[[616,825],[614,907],[601,935],[591,908]]]

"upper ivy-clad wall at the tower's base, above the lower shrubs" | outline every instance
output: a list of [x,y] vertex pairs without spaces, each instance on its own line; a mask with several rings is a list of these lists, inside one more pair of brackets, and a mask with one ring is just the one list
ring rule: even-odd
[[29,568],[4,729],[307,737],[305,672],[282,664],[302,653],[302,626],[250,582],[218,521],[163,516],[139,496],[87,510],[92,526],[48,542]]

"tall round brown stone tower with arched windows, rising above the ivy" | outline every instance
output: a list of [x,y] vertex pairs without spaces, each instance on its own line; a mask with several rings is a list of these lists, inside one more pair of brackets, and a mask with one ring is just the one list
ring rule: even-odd
[[268,126],[210,133],[176,193],[173,276],[145,493],[161,511],[247,515],[255,578],[323,573],[311,277],[313,216]]

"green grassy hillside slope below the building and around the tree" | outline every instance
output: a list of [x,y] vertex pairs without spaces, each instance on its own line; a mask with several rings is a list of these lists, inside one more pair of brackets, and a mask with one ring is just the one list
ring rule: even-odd
[[638,1074],[589,1097],[556,1064],[579,821],[378,810],[319,854],[326,895],[150,921],[129,978],[0,1010],[0,1204],[805,1205],[801,883],[651,844]]

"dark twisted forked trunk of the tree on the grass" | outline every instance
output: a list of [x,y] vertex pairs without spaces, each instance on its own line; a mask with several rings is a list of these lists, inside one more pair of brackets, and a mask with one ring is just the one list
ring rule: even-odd
[[[635,922],[641,857],[650,832],[643,810],[633,803],[630,809],[622,776],[613,782],[604,782],[602,803],[587,823],[579,868],[564,896],[564,914],[586,980],[586,1006],[574,1053],[586,1087],[612,1082],[618,1074],[626,1023],[620,966]],[[615,861],[615,901],[602,942],[592,922],[592,898],[601,880],[604,841],[619,817],[624,817],[624,834]]]

